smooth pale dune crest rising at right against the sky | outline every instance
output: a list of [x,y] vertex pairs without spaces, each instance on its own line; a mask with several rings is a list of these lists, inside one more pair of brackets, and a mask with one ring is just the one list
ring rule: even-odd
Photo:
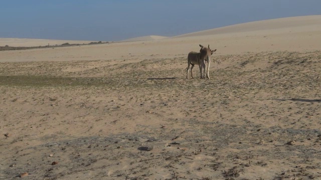
[[320,31],[321,15],[294,16],[251,21],[213,29],[201,30],[197,32],[185,33],[173,37],[192,37],[201,35],[215,35],[224,33],[239,33],[273,29],[284,29],[286,30],[286,32],[288,32],[289,29],[295,29],[298,31]]

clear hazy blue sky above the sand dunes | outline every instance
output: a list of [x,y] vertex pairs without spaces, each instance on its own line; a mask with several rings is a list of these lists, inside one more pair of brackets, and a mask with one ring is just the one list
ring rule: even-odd
[[117,41],[319,15],[321,0],[0,0],[0,37]]

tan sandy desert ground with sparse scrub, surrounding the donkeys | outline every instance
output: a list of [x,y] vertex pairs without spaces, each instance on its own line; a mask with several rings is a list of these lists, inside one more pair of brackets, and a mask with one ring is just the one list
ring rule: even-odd
[[0,51],[0,179],[321,179],[320,22]]

